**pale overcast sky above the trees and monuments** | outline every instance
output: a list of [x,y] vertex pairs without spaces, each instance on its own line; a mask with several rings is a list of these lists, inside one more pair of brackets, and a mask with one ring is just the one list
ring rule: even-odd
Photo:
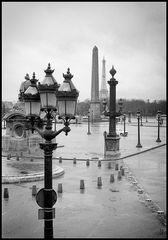
[[26,73],[42,81],[48,63],[58,83],[69,67],[90,99],[95,45],[99,88],[105,57],[117,99],[166,99],[166,2],[3,2],[2,100],[17,101]]

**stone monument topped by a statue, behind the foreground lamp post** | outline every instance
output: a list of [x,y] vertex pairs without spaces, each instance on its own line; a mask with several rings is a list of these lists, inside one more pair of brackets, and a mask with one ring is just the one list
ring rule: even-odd
[[[8,105],[10,108],[3,116],[6,123],[6,133],[2,136],[2,150],[7,153],[40,153],[39,143],[43,142],[42,137],[35,131],[31,131],[30,125],[26,118],[25,104],[23,102],[23,94],[30,86],[29,75],[26,74],[26,81],[21,83],[18,101],[14,105]],[[38,125],[43,128],[43,125]]]

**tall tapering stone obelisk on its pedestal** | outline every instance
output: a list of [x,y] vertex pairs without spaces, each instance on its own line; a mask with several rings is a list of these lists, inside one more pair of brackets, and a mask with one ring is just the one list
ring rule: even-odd
[[94,46],[92,50],[92,86],[90,115],[93,121],[100,120],[100,101],[99,101],[99,65],[98,48]]

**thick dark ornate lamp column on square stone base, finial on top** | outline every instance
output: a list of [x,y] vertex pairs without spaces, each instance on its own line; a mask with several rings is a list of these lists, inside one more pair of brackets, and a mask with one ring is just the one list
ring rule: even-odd
[[110,70],[112,78],[108,81],[110,85],[110,106],[109,112],[106,112],[106,100],[103,101],[104,104],[104,115],[109,116],[109,133],[104,132],[105,138],[105,155],[106,154],[119,154],[119,140],[120,137],[116,133],[116,117],[120,116],[120,113],[116,112],[116,85],[118,81],[114,78],[116,70],[112,66]]

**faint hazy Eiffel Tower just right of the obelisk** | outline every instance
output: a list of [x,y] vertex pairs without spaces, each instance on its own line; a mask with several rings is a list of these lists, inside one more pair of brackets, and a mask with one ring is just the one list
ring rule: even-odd
[[102,60],[102,81],[101,81],[101,89],[100,89],[100,99],[107,99],[108,98],[105,63],[106,63],[106,61],[103,58],[103,60]]

